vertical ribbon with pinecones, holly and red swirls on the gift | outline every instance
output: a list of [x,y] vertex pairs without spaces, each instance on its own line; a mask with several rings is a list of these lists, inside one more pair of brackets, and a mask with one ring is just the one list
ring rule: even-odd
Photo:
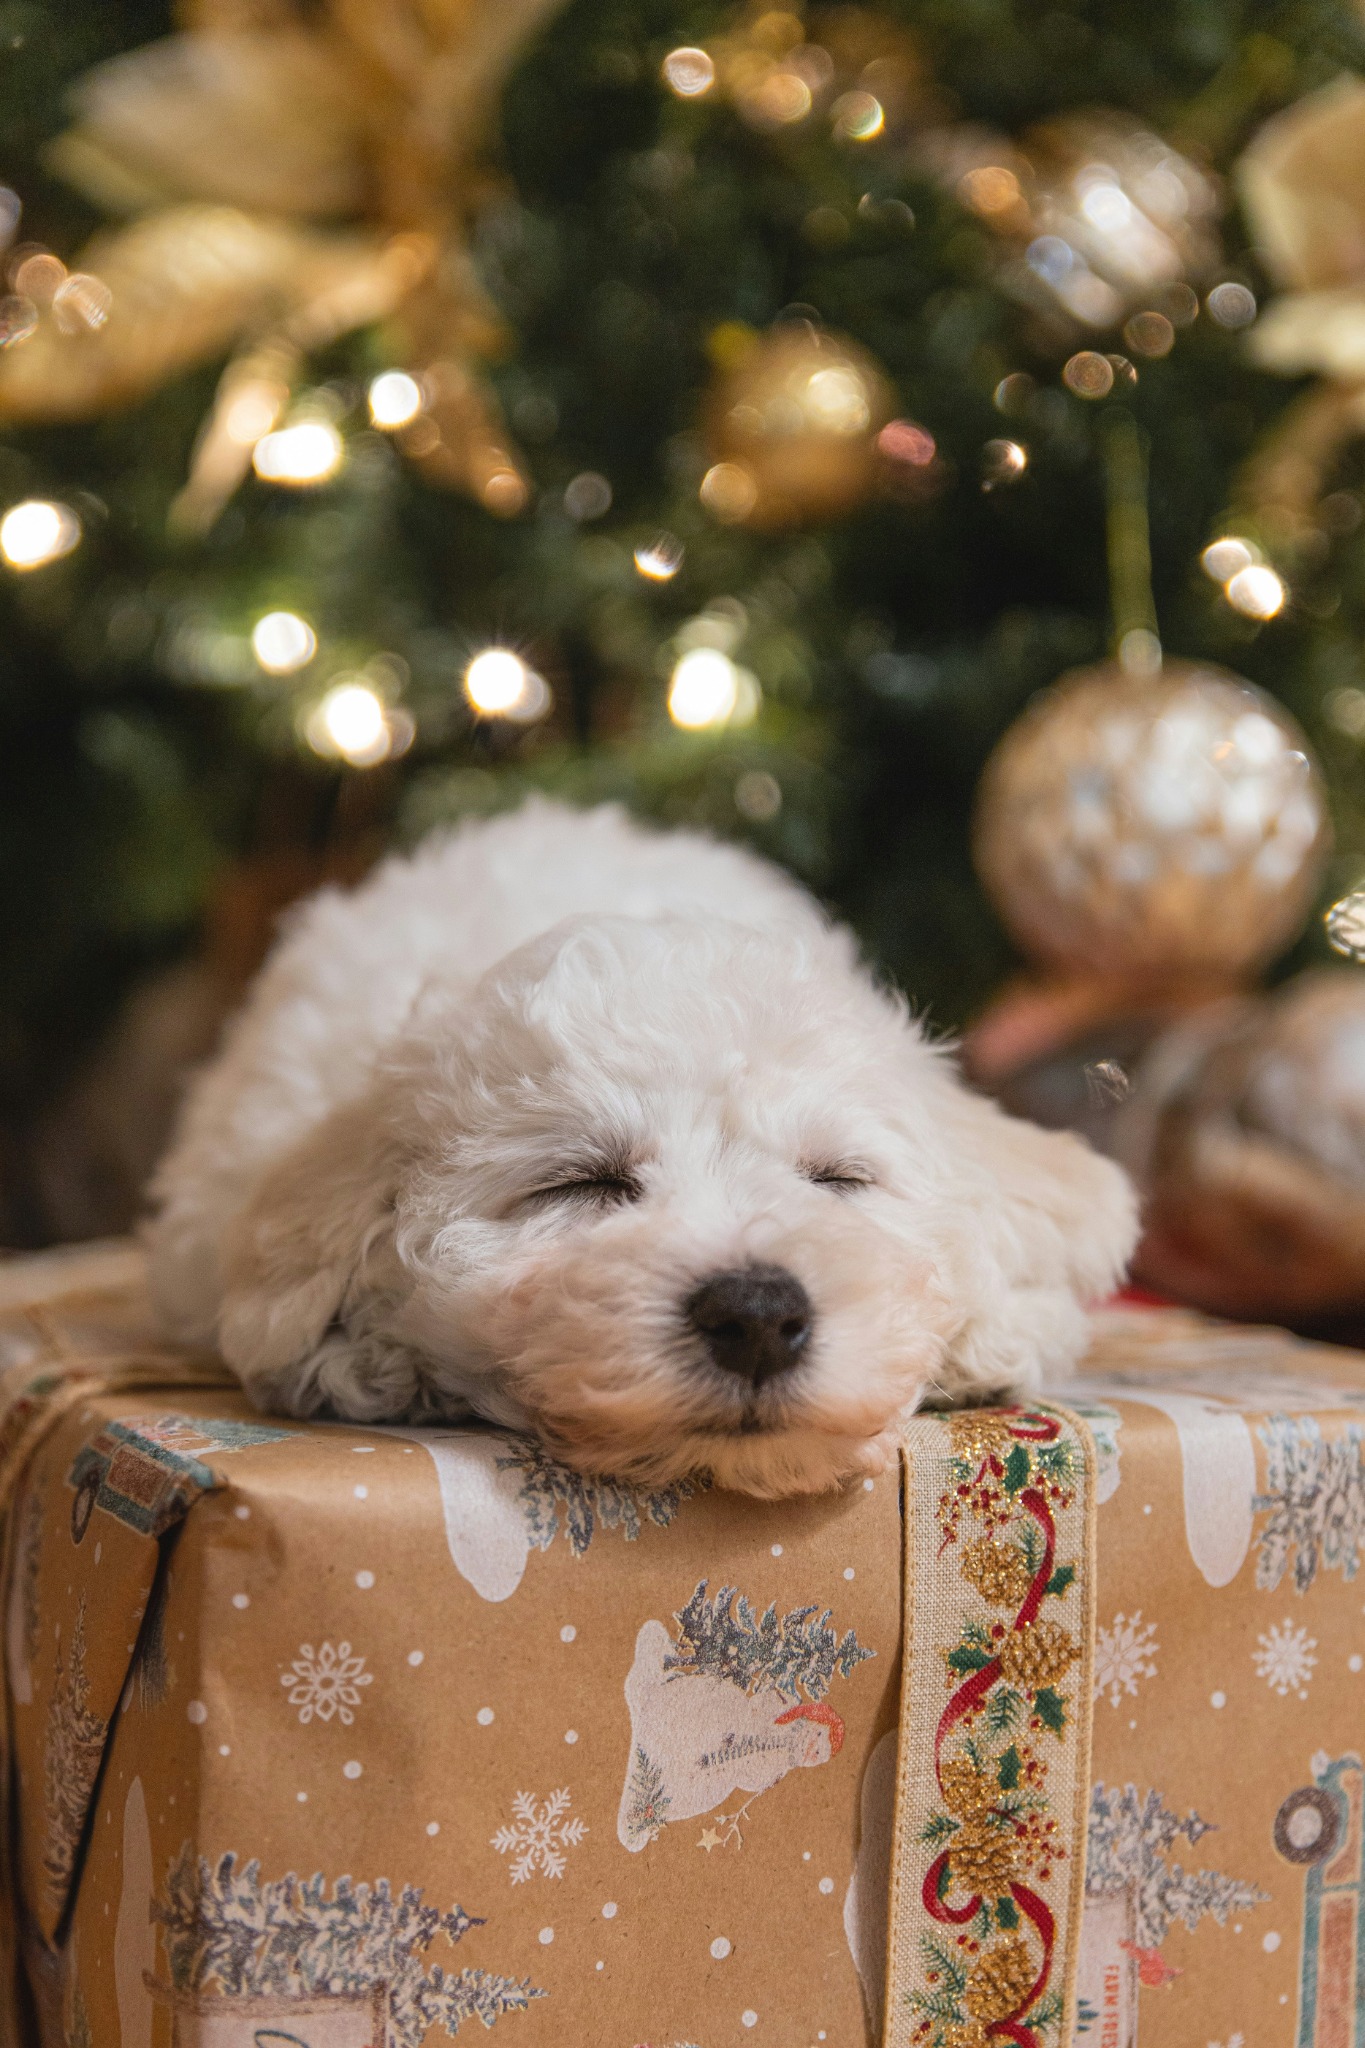
[[1064,2048],[1091,1780],[1095,1448],[1081,1417],[1040,1403],[917,1415],[902,1460],[882,2044]]

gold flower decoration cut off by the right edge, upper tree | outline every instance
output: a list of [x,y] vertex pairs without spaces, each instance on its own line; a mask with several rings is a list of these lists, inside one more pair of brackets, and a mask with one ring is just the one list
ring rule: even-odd
[[1342,76],[1273,115],[1236,178],[1281,289],[1250,330],[1252,358],[1322,379],[1289,406],[1244,479],[1252,506],[1293,541],[1342,444],[1365,432],[1365,82]]

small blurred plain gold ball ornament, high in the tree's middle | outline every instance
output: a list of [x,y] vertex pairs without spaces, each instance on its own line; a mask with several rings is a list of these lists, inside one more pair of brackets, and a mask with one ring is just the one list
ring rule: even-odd
[[774,328],[706,408],[712,463],[749,485],[724,516],[800,526],[851,512],[876,483],[876,434],[890,414],[886,377],[855,342],[806,322]]

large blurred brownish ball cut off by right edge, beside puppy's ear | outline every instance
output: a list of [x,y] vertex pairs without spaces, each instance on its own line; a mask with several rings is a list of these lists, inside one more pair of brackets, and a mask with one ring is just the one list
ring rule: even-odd
[[1365,1303],[1365,977],[1212,1004],[1136,1071],[1111,1149],[1142,1186],[1138,1276],[1220,1315]]

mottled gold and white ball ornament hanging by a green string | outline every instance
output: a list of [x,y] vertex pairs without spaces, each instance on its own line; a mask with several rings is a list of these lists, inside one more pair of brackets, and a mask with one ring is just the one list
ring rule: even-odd
[[1300,930],[1328,848],[1293,719],[1212,664],[1076,670],[986,762],[974,856],[1025,952],[1068,973],[1236,979]]

